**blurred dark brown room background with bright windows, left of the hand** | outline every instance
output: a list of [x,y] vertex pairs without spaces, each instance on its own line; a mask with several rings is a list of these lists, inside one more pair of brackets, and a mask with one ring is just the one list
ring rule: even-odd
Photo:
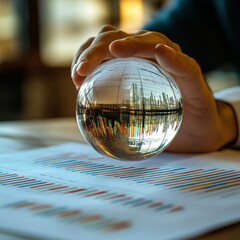
[[75,116],[70,65],[80,44],[103,24],[139,29],[169,1],[0,0],[0,121]]

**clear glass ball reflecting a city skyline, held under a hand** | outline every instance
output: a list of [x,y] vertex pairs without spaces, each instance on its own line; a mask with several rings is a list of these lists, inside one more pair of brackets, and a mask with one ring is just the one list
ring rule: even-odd
[[162,152],[182,121],[182,96],[154,62],[115,58],[83,82],[76,118],[85,140],[111,158],[143,160]]

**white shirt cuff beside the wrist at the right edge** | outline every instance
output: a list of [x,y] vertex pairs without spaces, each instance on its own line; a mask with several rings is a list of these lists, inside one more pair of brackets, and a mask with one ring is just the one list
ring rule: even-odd
[[238,138],[233,147],[240,149],[240,86],[219,91],[214,94],[214,97],[233,107],[238,124]]

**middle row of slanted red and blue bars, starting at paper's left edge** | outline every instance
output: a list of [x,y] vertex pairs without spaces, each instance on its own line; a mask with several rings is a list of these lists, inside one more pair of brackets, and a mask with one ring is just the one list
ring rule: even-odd
[[[26,184],[28,183],[28,184]],[[29,184],[30,183],[30,184]],[[35,192],[44,192],[45,194],[65,194],[74,195],[82,198],[96,198],[103,201],[108,201],[111,204],[127,205],[129,207],[145,207],[156,211],[159,205],[154,205],[154,200],[147,198],[134,198],[127,194],[110,192],[106,190],[99,190],[95,188],[77,188],[74,186],[61,185],[54,182],[46,182],[35,178],[27,178],[18,176],[17,174],[10,174],[0,172],[0,186],[10,186]],[[163,206],[168,203],[162,203]],[[177,206],[173,205],[172,208]],[[166,209],[166,208],[163,208]],[[183,207],[182,207],[183,209]],[[159,209],[157,210],[159,211]],[[169,210],[171,211],[171,209]]]

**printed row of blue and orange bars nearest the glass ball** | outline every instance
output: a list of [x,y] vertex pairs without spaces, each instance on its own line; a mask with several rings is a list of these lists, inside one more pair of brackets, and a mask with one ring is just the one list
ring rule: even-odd
[[70,172],[110,177],[131,181],[136,184],[146,184],[188,192],[217,192],[240,185],[240,171],[233,169],[114,166],[102,164],[97,161],[89,161],[83,155],[65,156],[64,159],[62,159],[62,155],[59,155],[59,157],[54,155],[44,159],[35,159],[35,163],[62,168]]

